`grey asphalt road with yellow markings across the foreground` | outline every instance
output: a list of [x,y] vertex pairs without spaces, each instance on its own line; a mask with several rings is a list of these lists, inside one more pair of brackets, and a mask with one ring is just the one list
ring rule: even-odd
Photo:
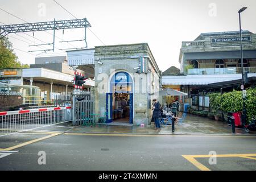
[[[256,137],[53,134],[43,138],[49,135],[52,134],[0,137],[2,150],[14,146],[9,151],[0,151],[0,170],[256,169]],[[38,138],[42,140],[35,142]],[[39,151],[46,152],[45,165],[38,164]],[[198,158],[197,155],[208,155],[209,151],[216,152],[216,164],[209,164],[208,157]],[[235,155],[218,157],[222,154]]]

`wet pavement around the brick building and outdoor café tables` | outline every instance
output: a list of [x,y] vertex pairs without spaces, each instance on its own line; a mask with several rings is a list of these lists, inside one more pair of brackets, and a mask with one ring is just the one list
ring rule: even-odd
[[[181,117],[182,113],[179,113]],[[127,125],[127,126],[123,126]],[[171,125],[162,126],[160,131],[154,130],[154,123],[150,126],[136,126],[129,125],[129,123],[110,123],[110,125],[96,125],[90,126],[78,126],[65,133],[112,133],[112,134],[187,134],[187,135],[233,135],[232,126],[229,126],[226,122],[214,121],[212,119],[199,117],[192,114],[186,114],[183,121],[179,119],[175,123],[175,132],[172,133]],[[238,135],[256,135],[254,132],[245,133],[243,129],[236,128],[236,134]]]

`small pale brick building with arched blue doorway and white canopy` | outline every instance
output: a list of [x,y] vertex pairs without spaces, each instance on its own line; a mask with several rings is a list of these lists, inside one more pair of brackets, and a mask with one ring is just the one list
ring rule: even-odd
[[[69,65],[93,68],[93,113],[106,122],[148,125],[161,72],[147,43],[68,51]],[[92,72],[92,71],[91,71]]]

